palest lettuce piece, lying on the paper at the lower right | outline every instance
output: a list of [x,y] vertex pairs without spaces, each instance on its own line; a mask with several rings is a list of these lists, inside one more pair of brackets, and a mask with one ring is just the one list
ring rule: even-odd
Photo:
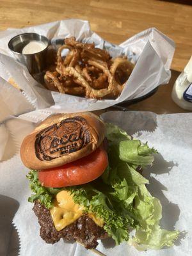
[[135,237],[129,239],[129,244],[134,245],[138,250],[159,250],[164,246],[173,246],[179,231],[168,231],[161,229],[162,207],[159,200],[150,195],[144,185],[135,198],[134,212],[140,226],[136,228]]

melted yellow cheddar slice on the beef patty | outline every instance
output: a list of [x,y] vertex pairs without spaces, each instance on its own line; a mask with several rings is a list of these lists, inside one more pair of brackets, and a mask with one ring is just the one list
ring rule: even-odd
[[[56,195],[54,206],[51,208],[50,213],[54,227],[60,231],[83,215],[83,206],[75,204],[70,193],[63,190]],[[92,213],[88,214],[88,216],[98,226],[103,227],[104,222],[102,219],[96,218]]]

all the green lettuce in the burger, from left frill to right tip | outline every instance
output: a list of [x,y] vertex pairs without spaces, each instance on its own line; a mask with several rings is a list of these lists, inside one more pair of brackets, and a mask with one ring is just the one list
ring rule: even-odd
[[[96,180],[88,184],[67,188],[45,188],[38,180],[38,172],[28,175],[33,195],[29,202],[39,200],[47,209],[54,196],[65,189],[74,202],[84,205],[84,212],[93,212],[104,220],[104,229],[116,244],[129,241],[138,250],[160,249],[172,246],[178,231],[161,229],[161,203],[146,188],[148,180],[138,170],[151,165],[157,153],[139,140],[133,140],[125,131],[106,124],[109,166]],[[130,237],[129,231],[136,230]]]

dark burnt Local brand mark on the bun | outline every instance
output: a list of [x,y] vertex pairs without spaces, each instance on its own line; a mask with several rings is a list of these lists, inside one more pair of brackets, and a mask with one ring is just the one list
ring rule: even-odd
[[36,134],[35,154],[42,161],[50,161],[76,152],[90,141],[91,135],[86,120],[81,116],[74,116]]

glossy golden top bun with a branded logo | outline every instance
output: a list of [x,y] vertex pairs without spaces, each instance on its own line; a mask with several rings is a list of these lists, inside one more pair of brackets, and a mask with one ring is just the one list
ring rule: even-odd
[[30,169],[61,166],[92,153],[104,131],[104,122],[93,113],[51,115],[24,138],[20,157]]

